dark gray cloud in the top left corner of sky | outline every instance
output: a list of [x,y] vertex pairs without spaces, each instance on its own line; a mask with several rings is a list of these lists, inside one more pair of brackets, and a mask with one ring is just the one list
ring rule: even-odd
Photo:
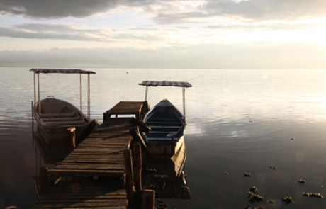
[[149,0],[1,0],[0,13],[30,18],[86,17],[116,6],[144,6]]

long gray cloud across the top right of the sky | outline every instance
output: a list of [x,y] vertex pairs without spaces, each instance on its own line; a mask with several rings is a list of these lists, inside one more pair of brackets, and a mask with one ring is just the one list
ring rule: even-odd
[[161,10],[153,18],[157,24],[196,23],[204,18],[235,18],[252,21],[293,21],[326,16],[322,0],[220,0],[205,1],[192,10]]

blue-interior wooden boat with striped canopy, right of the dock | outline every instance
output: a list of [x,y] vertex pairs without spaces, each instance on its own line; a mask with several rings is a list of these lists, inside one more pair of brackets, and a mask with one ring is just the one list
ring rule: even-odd
[[[179,86],[183,89],[191,87],[188,82],[175,81],[143,81],[140,85],[146,86]],[[147,101],[147,92],[145,101]],[[150,132],[143,133],[147,151],[153,158],[170,159],[184,146],[184,132],[186,130],[185,103],[182,114],[171,102],[164,99],[152,108],[143,120],[150,127]]]

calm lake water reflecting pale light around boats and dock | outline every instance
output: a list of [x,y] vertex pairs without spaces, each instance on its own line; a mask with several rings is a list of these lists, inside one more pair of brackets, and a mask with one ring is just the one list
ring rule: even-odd
[[[29,69],[0,68],[0,208],[31,208],[36,200]],[[302,195],[326,196],[326,70],[89,70],[96,72],[91,75],[91,118],[97,120],[119,101],[143,101],[141,81],[193,85],[186,89],[185,138],[191,200],[164,200],[169,208],[326,208],[324,198]],[[86,98],[86,77],[83,84]],[[55,96],[79,106],[79,75],[41,74],[40,88],[41,98]],[[180,88],[150,88],[151,107],[163,98],[182,110]],[[249,203],[252,186],[264,201]],[[281,200],[286,196],[295,203],[286,205]]]

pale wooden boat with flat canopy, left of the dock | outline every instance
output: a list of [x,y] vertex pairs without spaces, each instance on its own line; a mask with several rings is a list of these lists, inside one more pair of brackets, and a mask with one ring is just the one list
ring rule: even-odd
[[[47,144],[58,145],[67,144],[67,128],[75,128],[76,139],[79,139],[91,123],[90,118],[90,95],[88,78],[88,116],[82,110],[82,88],[81,74],[95,74],[92,71],[81,69],[30,69],[34,72],[34,106],[33,114],[38,124],[38,131],[43,136]],[[80,74],[80,110],[76,106],[54,98],[52,96],[40,100],[40,74]],[[36,75],[38,76],[38,101],[36,100]],[[89,129],[89,128],[88,128]]]

